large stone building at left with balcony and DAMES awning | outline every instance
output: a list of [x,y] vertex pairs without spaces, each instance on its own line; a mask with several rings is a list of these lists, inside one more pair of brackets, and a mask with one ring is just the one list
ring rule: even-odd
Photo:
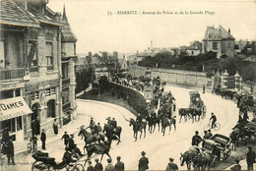
[[[52,132],[63,125],[61,15],[48,0],[0,1],[0,132],[16,142],[32,137],[32,121]],[[72,76],[73,77],[73,76]],[[75,78],[72,78],[75,80]],[[74,83],[74,81],[71,81]]]

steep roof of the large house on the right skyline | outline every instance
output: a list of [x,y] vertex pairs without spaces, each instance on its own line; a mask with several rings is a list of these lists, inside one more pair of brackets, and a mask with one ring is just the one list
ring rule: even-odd
[[204,37],[204,39],[226,39],[226,38],[233,39],[233,36],[229,34],[228,31],[226,31],[224,27],[221,25],[218,28],[207,27],[205,37]]

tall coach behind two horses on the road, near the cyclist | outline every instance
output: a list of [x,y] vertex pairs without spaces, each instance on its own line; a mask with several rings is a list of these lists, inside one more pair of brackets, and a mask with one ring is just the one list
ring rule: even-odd
[[195,109],[196,111],[201,111],[202,119],[206,116],[206,105],[204,101],[200,97],[200,93],[198,91],[189,91],[190,95],[190,105],[189,109]]

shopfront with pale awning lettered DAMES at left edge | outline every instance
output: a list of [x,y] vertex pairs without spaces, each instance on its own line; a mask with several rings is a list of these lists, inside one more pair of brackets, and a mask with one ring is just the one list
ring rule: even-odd
[[23,142],[25,136],[24,117],[32,110],[22,96],[0,100],[0,132],[8,128],[9,135],[16,142]]

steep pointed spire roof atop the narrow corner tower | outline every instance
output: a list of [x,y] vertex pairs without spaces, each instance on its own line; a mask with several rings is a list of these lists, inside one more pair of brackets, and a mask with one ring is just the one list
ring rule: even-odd
[[69,25],[69,22],[68,22],[68,18],[66,16],[65,6],[63,8],[62,22],[65,24],[64,27],[61,29],[62,41],[65,41],[65,42],[76,42],[77,41],[77,37],[74,34],[74,32],[72,31],[72,29],[70,28],[70,25]]

